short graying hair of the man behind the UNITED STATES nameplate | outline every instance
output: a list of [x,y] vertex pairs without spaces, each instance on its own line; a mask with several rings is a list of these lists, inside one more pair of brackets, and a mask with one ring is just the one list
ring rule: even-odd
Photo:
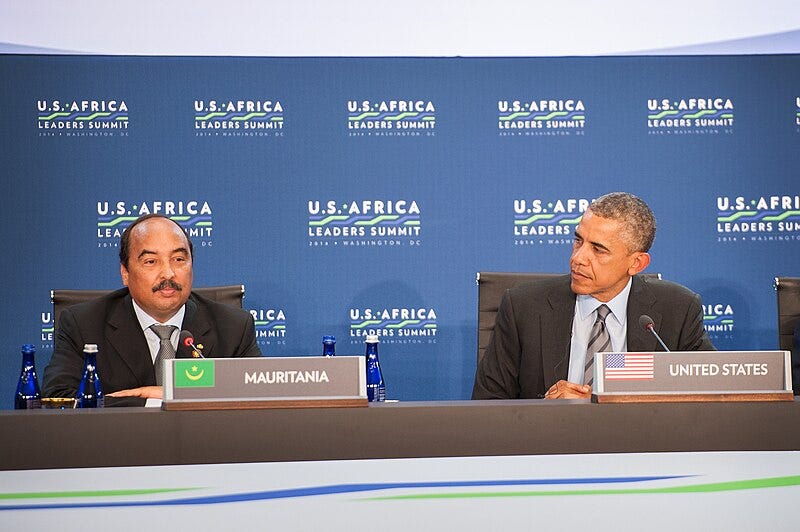
[[629,192],[611,192],[589,205],[597,216],[622,222],[622,239],[633,251],[650,251],[656,238],[656,217],[641,198]]

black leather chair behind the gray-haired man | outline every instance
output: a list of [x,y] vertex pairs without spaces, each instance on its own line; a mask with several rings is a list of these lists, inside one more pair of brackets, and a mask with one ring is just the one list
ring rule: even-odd
[[[561,273],[478,272],[478,361],[489,345],[494,331],[494,321],[503,293],[518,284],[558,277]],[[660,273],[646,273],[642,277],[661,279]]]

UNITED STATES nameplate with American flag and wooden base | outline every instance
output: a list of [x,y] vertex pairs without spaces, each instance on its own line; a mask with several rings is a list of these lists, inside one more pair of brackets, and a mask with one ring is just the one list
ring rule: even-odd
[[792,401],[788,351],[598,353],[592,401]]

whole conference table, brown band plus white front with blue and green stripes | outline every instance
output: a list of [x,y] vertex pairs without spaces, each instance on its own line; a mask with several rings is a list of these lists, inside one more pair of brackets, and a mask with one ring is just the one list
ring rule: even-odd
[[582,497],[600,529],[667,504],[670,528],[789,530],[800,500],[797,400],[2,411],[0,428],[1,528],[102,509],[127,529],[135,507],[200,529],[242,515],[349,529],[357,507],[384,529],[424,515],[420,529],[466,530],[556,524]]

